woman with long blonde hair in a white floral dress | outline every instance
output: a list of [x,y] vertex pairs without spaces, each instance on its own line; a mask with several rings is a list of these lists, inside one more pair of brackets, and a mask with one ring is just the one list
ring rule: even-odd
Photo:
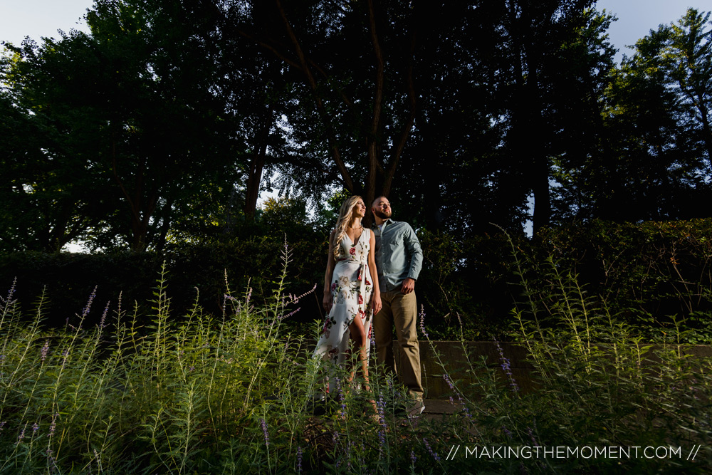
[[[341,205],[336,228],[331,231],[324,276],[323,305],[327,315],[314,355],[335,365],[343,363],[350,336],[359,349],[368,390],[371,322],[372,315],[381,309],[381,296],[374,258],[375,237],[362,226],[364,216],[363,199],[350,197]],[[354,375],[355,370],[349,381]]]

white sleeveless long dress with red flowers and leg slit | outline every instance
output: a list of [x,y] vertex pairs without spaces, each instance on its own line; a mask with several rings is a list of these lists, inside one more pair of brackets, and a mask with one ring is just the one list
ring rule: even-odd
[[366,355],[369,355],[371,340],[372,309],[370,307],[373,285],[368,268],[370,229],[364,229],[352,242],[344,236],[331,280],[333,306],[324,321],[321,336],[314,351],[335,364],[345,361],[349,351],[349,325],[354,318],[361,318],[367,335]]

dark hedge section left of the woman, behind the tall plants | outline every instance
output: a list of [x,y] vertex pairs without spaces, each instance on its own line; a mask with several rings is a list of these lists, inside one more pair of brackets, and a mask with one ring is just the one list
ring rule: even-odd
[[[275,233],[276,234],[276,233]],[[102,299],[116,302],[119,298],[140,302],[140,315],[148,313],[145,302],[148,291],[162,263],[171,276],[173,306],[180,319],[198,296],[201,306],[210,313],[220,313],[224,286],[251,286],[253,301],[263,303],[271,295],[271,281],[281,266],[284,233],[273,236],[237,237],[228,241],[204,244],[167,246],[163,252],[135,253],[130,251],[105,254],[45,254],[25,252],[0,256],[0,280],[9,284],[14,278],[25,283],[19,289],[19,299],[30,302],[46,288],[53,312],[46,320],[59,326],[73,316],[83,301],[98,287]],[[296,256],[291,289],[297,293],[308,291],[315,282],[323,280],[326,237],[310,234],[300,241],[290,241]],[[67,278],[72,276],[72,278]],[[315,299],[305,303],[305,318],[320,315]],[[90,317],[96,323],[98,317]]]

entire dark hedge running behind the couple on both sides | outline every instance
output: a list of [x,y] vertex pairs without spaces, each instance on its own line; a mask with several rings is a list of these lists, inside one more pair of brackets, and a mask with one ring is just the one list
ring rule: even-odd
[[[712,219],[641,224],[595,220],[548,229],[537,239],[515,236],[512,242],[494,226],[465,240],[424,229],[418,233],[424,268],[416,290],[431,338],[506,336],[513,302],[523,292],[512,254],[516,249],[530,288],[542,296],[552,283],[540,266],[553,256],[557,266],[577,274],[587,292],[602,296],[612,313],[646,338],[663,338],[682,322],[690,330],[688,343],[712,342]],[[17,278],[16,298],[26,308],[46,288],[50,325],[80,313],[97,286],[90,318],[98,320],[107,301],[115,308],[120,293],[123,308],[150,300],[165,261],[174,317],[193,306],[198,291],[201,306],[220,315],[226,274],[234,294],[251,287],[253,300],[270,295],[283,265],[284,234],[279,234],[270,229],[263,236],[184,244],[162,253],[8,254],[0,256],[0,285],[9,288]],[[328,244],[321,231],[302,229],[288,236],[287,291],[298,295],[315,284],[317,288],[290,318],[296,325],[322,318]]]

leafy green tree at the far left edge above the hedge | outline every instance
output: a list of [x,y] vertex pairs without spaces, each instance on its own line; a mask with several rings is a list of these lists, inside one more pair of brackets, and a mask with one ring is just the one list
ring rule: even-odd
[[[77,104],[85,98],[79,83],[66,83],[95,64],[70,38],[9,49],[2,63],[3,247],[58,251],[98,226],[110,201],[106,177],[89,165],[102,118]],[[64,56],[70,51],[75,67]]]

